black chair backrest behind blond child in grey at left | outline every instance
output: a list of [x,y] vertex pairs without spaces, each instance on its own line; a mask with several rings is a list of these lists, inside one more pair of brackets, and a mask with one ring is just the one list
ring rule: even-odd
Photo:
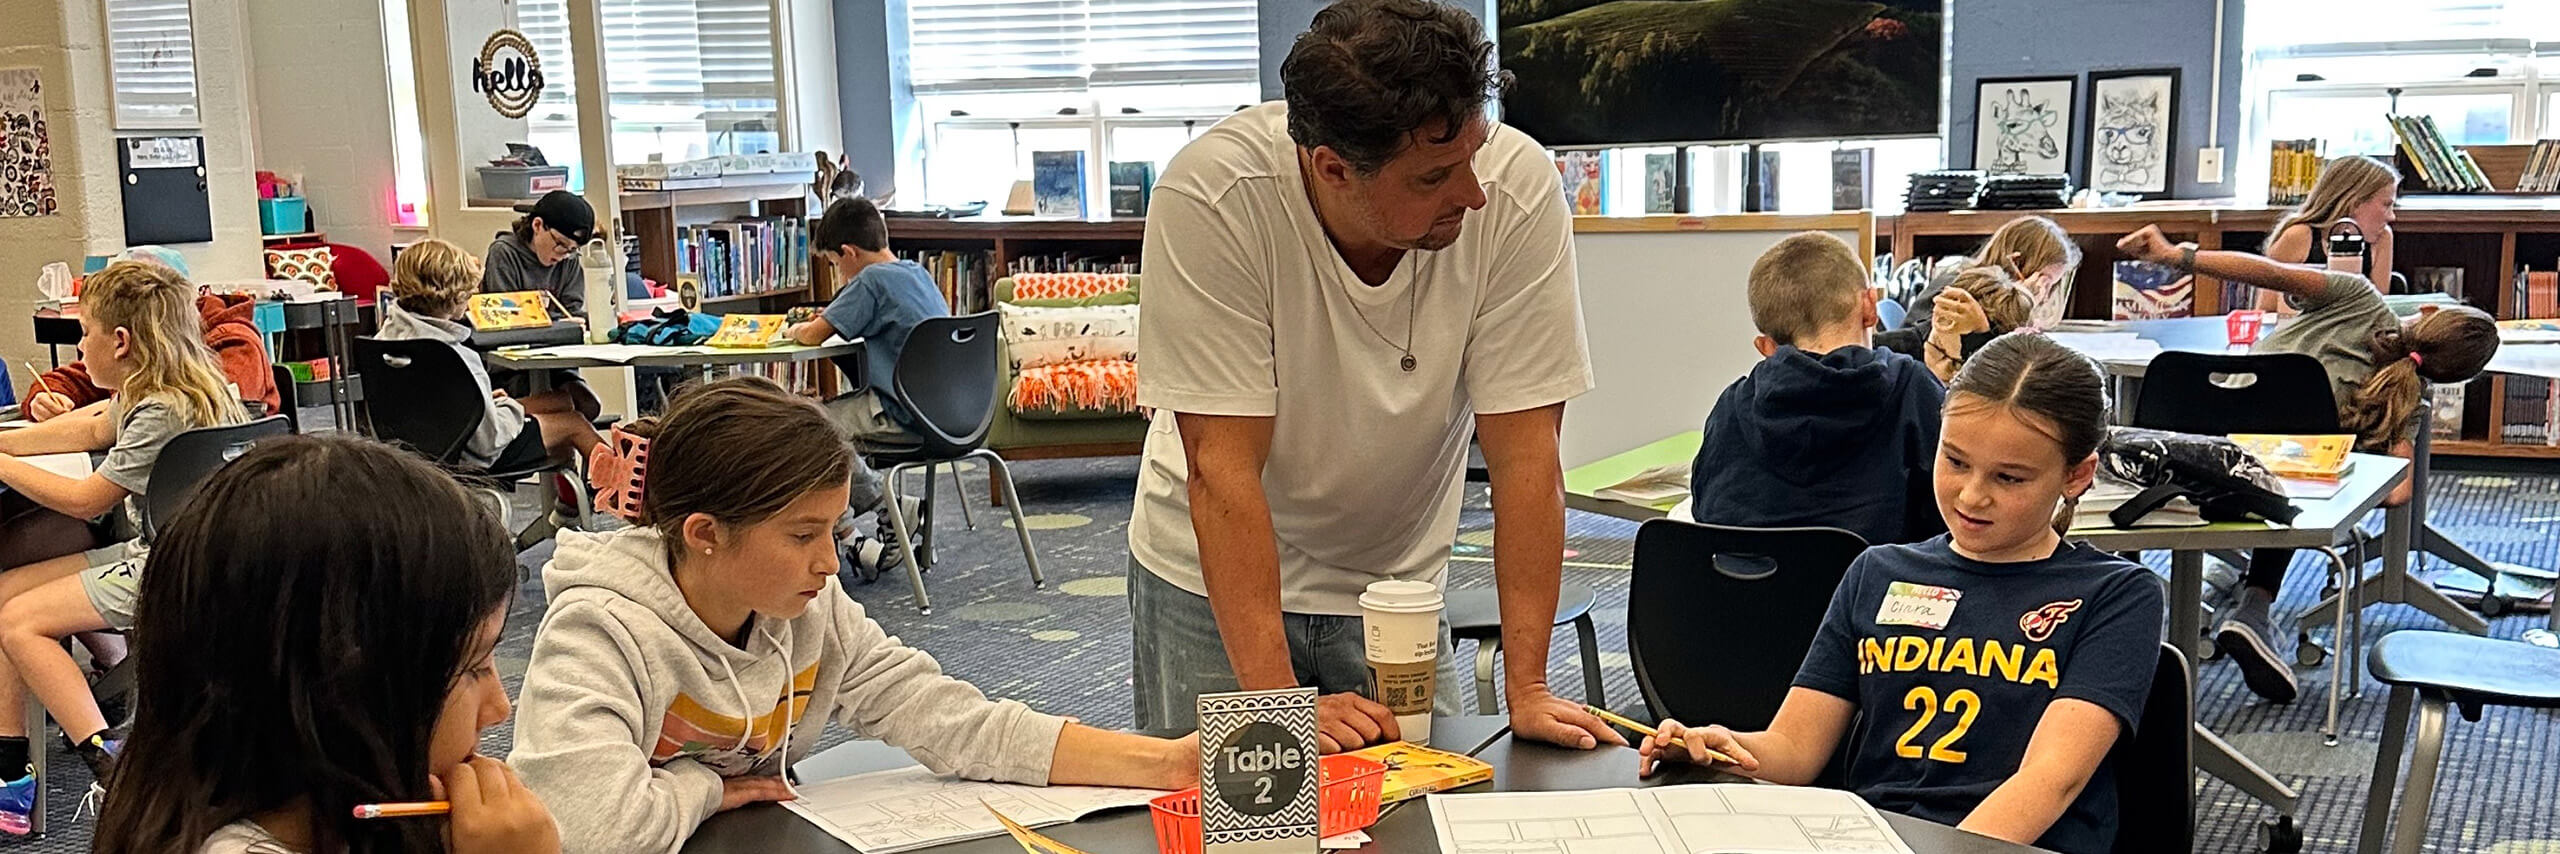
[[453,465],[486,414],[471,366],[440,340],[356,338],[356,376],[366,389],[366,435],[435,463]]

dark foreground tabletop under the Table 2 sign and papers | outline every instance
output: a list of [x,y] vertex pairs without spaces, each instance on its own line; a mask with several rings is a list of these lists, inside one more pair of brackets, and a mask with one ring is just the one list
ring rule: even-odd
[[[1431,741],[1441,749],[1462,749],[1492,765],[1492,782],[1477,782],[1462,788],[1459,793],[1554,793],[1554,790],[1592,790],[1592,788],[1631,788],[1631,785],[1667,785],[1667,782],[1710,782],[1733,777],[1718,777],[1705,770],[1684,767],[1674,772],[1656,775],[1656,780],[1636,780],[1636,752],[1626,747],[1603,749],[1562,749],[1546,744],[1516,744],[1510,739],[1510,726],[1500,716],[1462,716],[1439,718],[1431,724]],[[804,759],[796,772],[806,780],[832,780],[842,775],[893,770],[914,765],[906,752],[893,749],[881,741],[850,741],[837,744]],[[2007,844],[1989,836],[1974,836],[1951,826],[1930,823],[1923,818],[1884,813],[1884,821],[1902,834],[1917,854],[2035,854],[2040,849]],[[1039,828],[1039,834],[1052,836],[1062,844],[1093,851],[1093,854],[1139,854],[1155,851],[1155,821],[1144,808],[1098,813],[1085,821]],[[1423,800],[1393,803],[1367,828],[1370,844],[1357,851],[1398,851],[1421,854],[1439,851],[1439,839],[1431,831],[1431,813]],[[694,839],[684,844],[684,854],[829,854],[852,851],[852,846],[827,836],[814,823],[801,821],[791,811],[771,803],[758,803],[737,811],[727,811],[704,821]],[[1009,836],[955,841],[947,846],[924,849],[934,854],[1021,854],[1021,846]]]

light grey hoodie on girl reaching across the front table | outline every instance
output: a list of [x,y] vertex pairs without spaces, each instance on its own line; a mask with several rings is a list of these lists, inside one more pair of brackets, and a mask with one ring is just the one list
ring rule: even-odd
[[781,775],[829,718],[940,775],[1050,780],[1065,718],[942,675],[832,578],[796,619],[753,616],[745,649],[684,603],[655,529],[561,532],[543,588],[507,762],[563,854],[681,849],[722,777]]

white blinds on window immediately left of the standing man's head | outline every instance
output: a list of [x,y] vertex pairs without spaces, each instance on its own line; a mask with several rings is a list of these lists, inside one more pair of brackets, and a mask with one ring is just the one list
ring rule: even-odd
[[911,0],[916,92],[1252,82],[1252,0]]

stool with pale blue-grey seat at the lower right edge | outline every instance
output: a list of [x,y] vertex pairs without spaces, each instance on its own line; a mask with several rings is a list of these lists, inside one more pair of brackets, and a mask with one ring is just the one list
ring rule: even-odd
[[2409,795],[2401,798],[2399,821],[2391,821],[2394,854],[2417,854],[2427,841],[2435,767],[2445,759],[2445,706],[2463,706],[2463,721],[2478,721],[2486,706],[2560,708],[2560,649],[2458,632],[2394,632],[2373,644],[2365,667],[2391,685],[2391,708],[2383,713],[2383,744],[2373,754],[2365,826],[2355,834],[2358,854],[2383,849],[2383,813],[2391,811],[2391,785],[2399,782],[2412,706],[2417,749],[2409,759]]

